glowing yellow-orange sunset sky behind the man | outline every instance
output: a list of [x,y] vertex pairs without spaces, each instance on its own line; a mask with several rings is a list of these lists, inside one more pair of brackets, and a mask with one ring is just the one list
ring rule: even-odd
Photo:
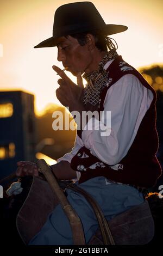
[[[57,62],[56,47],[33,47],[52,36],[55,10],[71,2],[75,1],[0,1],[0,89],[33,93],[36,111],[48,103],[59,103],[55,96],[59,77],[52,65],[62,65]],[[124,60],[136,68],[163,63],[162,0],[92,2],[106,24],[128,26],[126,32],[111,36]]]

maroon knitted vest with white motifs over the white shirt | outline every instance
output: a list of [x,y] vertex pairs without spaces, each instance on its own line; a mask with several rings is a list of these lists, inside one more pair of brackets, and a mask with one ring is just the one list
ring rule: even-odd
[[[155,154],[158,150],[158,133],[156,131],[156,93],[148,84],[143,76],[124,62],[121,56],[118,56],[107,69],[109,86],[104,87],[101,92],[99,111],[104,109],[104,100],[107,90],[126,74],[133,74],[146,88],[153,93],[153,101],[143,117],[133,144],[127,155],[120,161],[118,170],[110,168],[109,164],[103,163],[96,156],[90,153],[90,150],[82,147],[71,160],[71,168],[81,171],[79,183],[96,176],[104,176],[109,180],[130,184],[140,187],[152,187],[161,175],[161,167]],[[78,131],[82,138],[82,131]],[[85,155],[86,154],[86,155]],[[85,157],[86,156],[86,157]],[[92,169],[92,164],[94,167]],[[90,168],[91,167],[91,168]]]

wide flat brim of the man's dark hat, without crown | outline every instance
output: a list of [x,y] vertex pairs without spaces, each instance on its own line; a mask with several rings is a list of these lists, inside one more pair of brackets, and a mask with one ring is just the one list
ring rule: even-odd
[[[104,28],[101,29],[101,31],[104,33],[104,35],[113,35],[113,34],[117,34],[117,33],[121,33],[124,32],[128,29],[127,26],[123,26],[123,25],[114,25],[114,24],[108,24],[105,25]],[[86,30],[84,31],[80,31],[82,32],[86,32]],[[76,31],[74,33],[80,33],[79,31]],[[70,34],[70,33],[67,33]],[[64,35],[62,35],[64,36]],[[34,48],[42,48],[42,47],[54,47],[56,46],[57,43],[57,39],[60,36],[52,36],[51,38],[48,38],[42,42],[40,42],[40,44],[34,46]]]

